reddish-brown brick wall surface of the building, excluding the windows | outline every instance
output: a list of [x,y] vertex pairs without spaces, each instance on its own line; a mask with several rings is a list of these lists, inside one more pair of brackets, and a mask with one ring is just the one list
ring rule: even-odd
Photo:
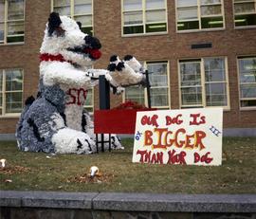
[[[121,9],[119,0],[94,1],[94,32],[101,40],[102,57],[95,68],[106,68],[109,57],[133,54],[141,61],[169,61],[171,107],[179,108],[177,61],[184,58],[212,56],[228,57],[230,110],[224,114],[224,127],[256,127],[255,110],[239,109],[238,73],[236,57],[256,54],[256,28],[234,29],[232,1],[224,1],[226,29],[193,33],[175,32],[174,1],[168,2],[167,34],[156,36],[121,37]],[[0,68],[22,67],[25,70],[24,100],[36,95],[39,75],[39,48],[42,43],[50,0],[27,0],[25,44],[0,46]],[[191,49],[192,44],[211,43],[211,48]],[[111,98],[115,106],[121,97]],[[98,90],[95,108],[99,107]],[[0,119],[0,133],[13,133],[17,119]]]

